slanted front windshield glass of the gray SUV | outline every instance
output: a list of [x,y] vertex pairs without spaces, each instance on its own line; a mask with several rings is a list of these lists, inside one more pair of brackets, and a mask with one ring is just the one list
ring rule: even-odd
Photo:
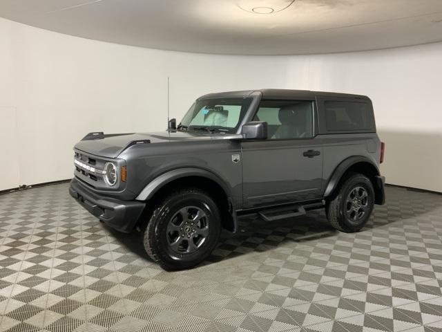
[[194,102],[177,129],[234,133],[252,98],[213,98]]

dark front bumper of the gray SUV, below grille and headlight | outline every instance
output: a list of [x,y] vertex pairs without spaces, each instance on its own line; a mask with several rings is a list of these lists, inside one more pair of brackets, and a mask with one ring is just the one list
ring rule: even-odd
[[138,201],[118,201],[99,196],[81,184],[76,178],[70,181],[69,194],[77,202],[106,225],[128,233],[133,230],[146,204]]

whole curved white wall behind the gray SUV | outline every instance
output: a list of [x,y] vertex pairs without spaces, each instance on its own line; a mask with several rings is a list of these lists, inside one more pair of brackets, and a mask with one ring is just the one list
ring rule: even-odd
[[89,131],[164,129],[170,76],[176,118],[213,91],[367,94],[387,143],[387,182],[442,192],[441,56],[442,44],[292,57],[175,53],[0,19],[0,190],[70,178],[72,147]]

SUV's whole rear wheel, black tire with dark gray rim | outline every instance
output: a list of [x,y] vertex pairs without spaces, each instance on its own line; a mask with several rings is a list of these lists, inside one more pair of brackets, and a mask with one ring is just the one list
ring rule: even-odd
[[334,228],[342,232],[358,232],[367,223],[374,207],[372,182],[363,174],[351,174],[327,201],[325,212]]

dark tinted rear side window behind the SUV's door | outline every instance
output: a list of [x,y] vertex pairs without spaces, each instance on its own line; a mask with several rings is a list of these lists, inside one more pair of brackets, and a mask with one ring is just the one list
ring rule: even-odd
[[367,102],[326,100],[324,113],[327,131],[355,132],[374,129],[372,105]]

